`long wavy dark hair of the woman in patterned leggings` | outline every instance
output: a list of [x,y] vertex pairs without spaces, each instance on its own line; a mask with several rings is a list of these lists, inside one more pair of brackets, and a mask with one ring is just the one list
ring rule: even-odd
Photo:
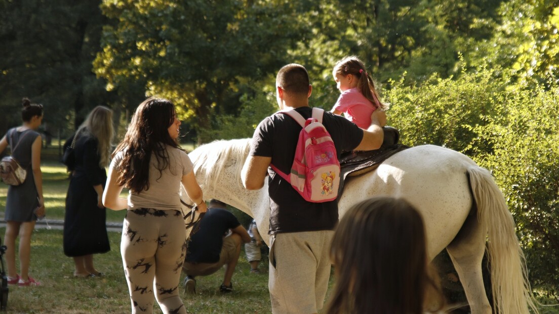
[[118,152],[123,153],[117,180],[119,185],[136,193],[148,190],[152,153],[157,158],[157,169],[161,176],[162,171],[169,166],[167,146],[181,149],[168,131],[175,115],[174,104],[163,98],[150,97],[138,106],[124,140],[112,155],[114,157]]

